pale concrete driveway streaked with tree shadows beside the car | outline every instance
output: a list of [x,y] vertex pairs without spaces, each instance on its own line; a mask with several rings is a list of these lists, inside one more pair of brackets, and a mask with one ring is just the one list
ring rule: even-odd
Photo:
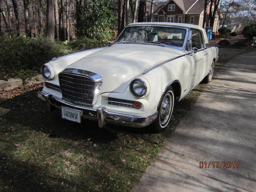
[[255,51],[220,69],[132,191],[256,192]]

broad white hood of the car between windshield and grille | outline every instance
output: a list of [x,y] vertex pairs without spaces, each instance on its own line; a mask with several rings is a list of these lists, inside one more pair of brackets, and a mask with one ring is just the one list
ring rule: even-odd
[[168,47],[146,44],[113,44],[92,53],[67,68],[87,70],[102,77],[103,92],[124,92],[130,81],[144,70],[184,54]]

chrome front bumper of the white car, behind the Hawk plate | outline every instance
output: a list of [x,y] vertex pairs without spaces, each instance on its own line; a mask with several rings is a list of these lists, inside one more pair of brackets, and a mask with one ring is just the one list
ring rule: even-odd
[[52,96],[52,94],[46,93],[42,90],[38,91],[38,98],[46,102],[47,110],[49,112],[52,110],[52,106],[58,109],[61,109],[61,106],[66,106],[76,110],[81,110],[82,118],[98,121],[99,128],[106,126],[107,123],[128,127],[145,127],[154,122],[158,116],[157,111],[148,116],[133,116],[109,112],[103,105],[99,106],[97,109],[82,105],[74,105],[71,102],[56,98]]

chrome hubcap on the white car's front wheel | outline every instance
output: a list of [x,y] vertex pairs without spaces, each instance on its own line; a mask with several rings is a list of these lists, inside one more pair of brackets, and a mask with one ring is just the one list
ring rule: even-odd
[[162,106],[160,109],[160,123],[165,124],[170,116],[171,113],[171,107],[172,107],[172,97],[170,94],[167,94],[164,97],[164,100],[162,102]]

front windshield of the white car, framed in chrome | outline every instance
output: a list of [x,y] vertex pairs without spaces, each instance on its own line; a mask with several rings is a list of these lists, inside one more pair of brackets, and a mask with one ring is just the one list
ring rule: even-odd
[[159,45],[182,47],[186,30],[162,26],[130,26],[118,37],[116,42],[145,42]]

